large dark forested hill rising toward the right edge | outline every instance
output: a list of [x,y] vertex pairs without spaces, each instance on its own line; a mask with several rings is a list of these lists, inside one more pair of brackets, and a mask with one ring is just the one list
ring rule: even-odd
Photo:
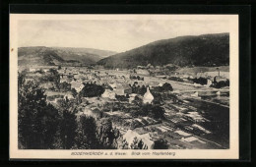
[[105,68],[161,66],[224,66],[229,64],[229,33],[179,36],[115,54],[97,62]]

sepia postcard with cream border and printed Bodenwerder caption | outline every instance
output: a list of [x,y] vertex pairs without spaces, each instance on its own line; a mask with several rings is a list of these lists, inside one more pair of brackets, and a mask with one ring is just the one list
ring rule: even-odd
[[238,158],[237,43],[237,15],[11,14],[10,155]]

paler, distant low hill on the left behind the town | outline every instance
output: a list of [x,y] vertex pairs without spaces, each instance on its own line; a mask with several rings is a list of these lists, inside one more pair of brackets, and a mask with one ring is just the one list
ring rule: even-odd
[[19,65],[92,65],[102,58],[116,54],[108,50],[72,47],[19,47]]

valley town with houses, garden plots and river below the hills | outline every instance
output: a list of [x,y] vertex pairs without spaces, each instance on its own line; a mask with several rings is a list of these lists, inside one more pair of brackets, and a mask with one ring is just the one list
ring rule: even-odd
[[191,69],[21,66],[19,82],[36,83],[59,111],[68,103],[77,120],[110,120],[117,149],[227,149],[229,72]]

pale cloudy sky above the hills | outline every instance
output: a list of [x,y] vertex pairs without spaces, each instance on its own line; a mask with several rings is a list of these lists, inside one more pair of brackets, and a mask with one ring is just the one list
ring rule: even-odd
[[225,20],[23,20],[18,45],[124,52],[182,35],[228,32]]

